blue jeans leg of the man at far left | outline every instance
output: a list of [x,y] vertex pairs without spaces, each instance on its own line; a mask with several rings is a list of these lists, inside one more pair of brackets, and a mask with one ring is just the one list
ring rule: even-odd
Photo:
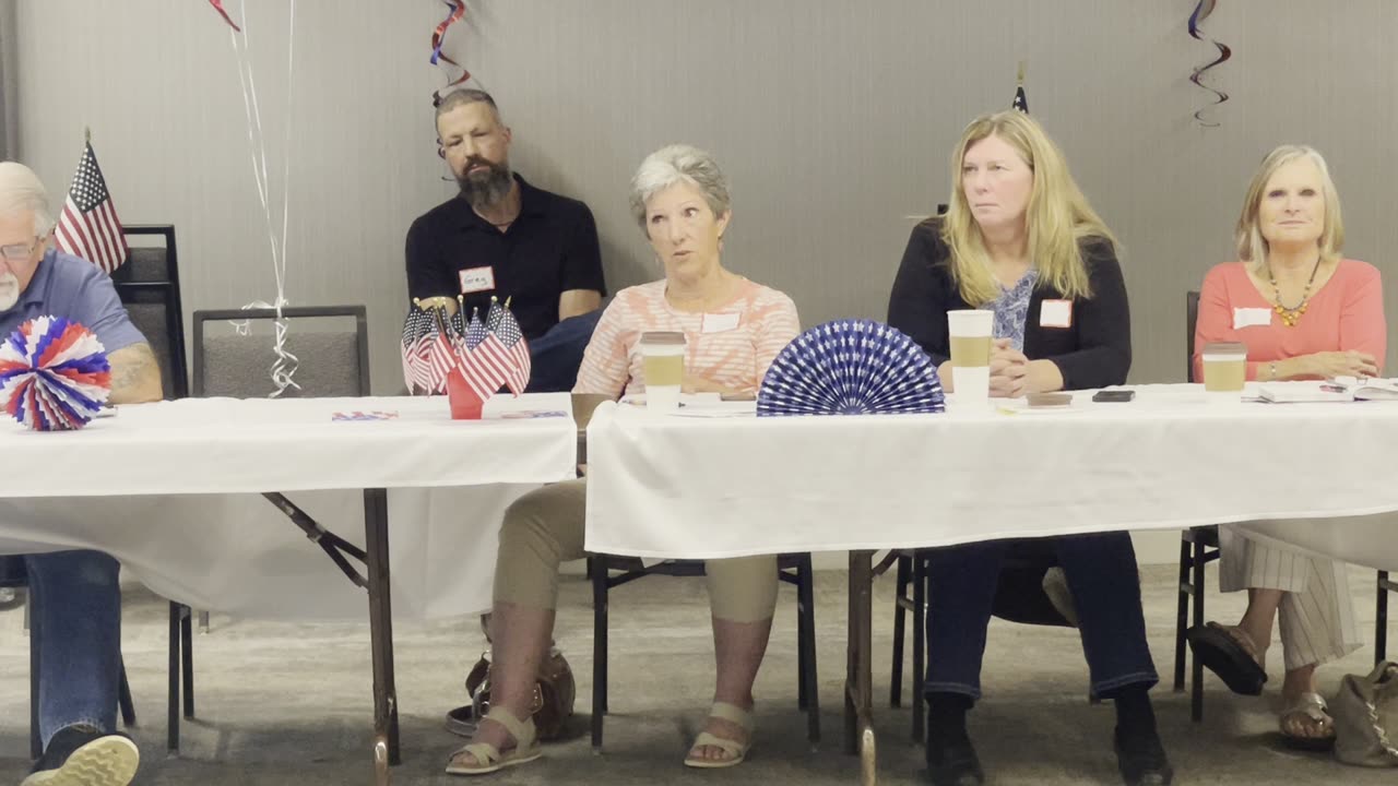
[[29,635],[39,636],[39,734],[87,723],[116,729],[122,669],[119,564],[99,551],[24,558],[29,573]]

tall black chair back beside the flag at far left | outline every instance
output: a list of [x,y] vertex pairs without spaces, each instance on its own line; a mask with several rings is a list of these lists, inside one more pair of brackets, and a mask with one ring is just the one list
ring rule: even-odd
[[[131,246],[126,262],[112,271],[112,284],[126,313],[161,366],[166,399],[189,396],[189,366],[185,355],[185,309],[179,294],[179,255],[175,227],[133,224],[123,227]],[[147,246],[133,238],[159,238],[164,245]]]

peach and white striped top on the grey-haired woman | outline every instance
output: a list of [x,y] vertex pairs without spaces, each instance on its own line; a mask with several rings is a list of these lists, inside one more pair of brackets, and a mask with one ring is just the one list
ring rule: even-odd
[[747,278],[737,296],[707,316],[672,309],[665,301],[664,280],[628,287],[603,312],[583,352],[573,393],[615,399],[644,392],[640,334],[647,330],[685,334],[686,373],[756,393],[768,366],[801,327],[791,298]]

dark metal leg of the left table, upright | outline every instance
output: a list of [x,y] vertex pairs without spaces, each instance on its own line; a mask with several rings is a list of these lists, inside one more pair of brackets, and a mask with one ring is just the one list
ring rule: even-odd
[[393,685],[393,600],[389,594],[389,492],[363,492],[365,551],[369,566],[369,641],[373,652],[375,769],[387,785],[387,765],[398,757],[398,694]]

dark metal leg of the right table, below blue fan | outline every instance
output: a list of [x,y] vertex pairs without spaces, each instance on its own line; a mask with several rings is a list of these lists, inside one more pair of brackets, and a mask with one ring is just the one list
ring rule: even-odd
[[872,724],[872,551],[850,552],[849,670],[844,681],[844,750],[860,754],[864,786],[874,786],[878,782]]

